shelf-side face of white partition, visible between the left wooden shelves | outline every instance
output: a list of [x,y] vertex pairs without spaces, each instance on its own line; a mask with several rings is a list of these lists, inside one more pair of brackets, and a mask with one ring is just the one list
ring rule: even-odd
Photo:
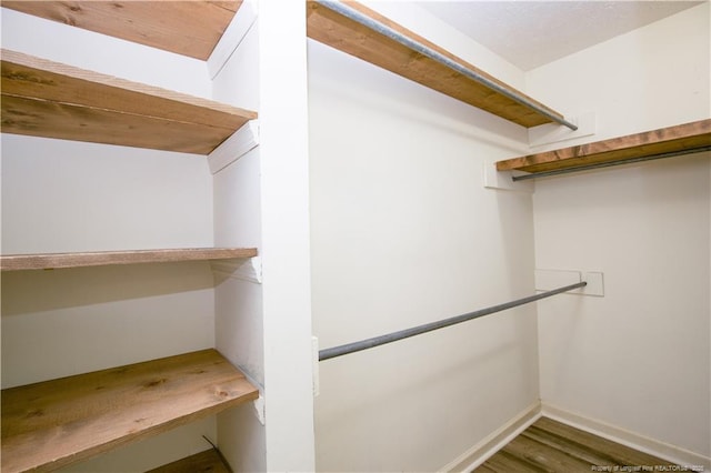
[[[242,14],[240,12],[238,14]],[[213,81],[213,98],[259,109],[259,36],[254,23]],[[214,244],[261,252],[261,163],[259,148],[213,175]],[[216,346],[264,389],[262,286],[216,273]],[[266,471],[266,427],[252,403],[218,415],[219,446],[234,471]]]

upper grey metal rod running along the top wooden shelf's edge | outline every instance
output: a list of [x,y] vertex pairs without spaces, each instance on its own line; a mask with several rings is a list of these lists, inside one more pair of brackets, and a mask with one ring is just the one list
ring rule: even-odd
[[388,27],[387,24],[383,24],[377,20],[373,20],[372,18],[368,17],[367,14],[361,13],[360,11],[353,10],[352,8],[346,6],[344,3],[338,2],[338,1],[329,1],[329,0],[316,0],[317,3],[319,3],[322,7],[328,8],[329,10],[336,11],[337,13],[342,14],[346,18],[349,18],[362,26],[364,26],[365,28],[369,28],[373,31],[379,32],[380,34],[390,38],[393,41],[399,42],[400,44],[403,44],[417,52],[419,52],[422,56],[425,56],[430,59],[432,59],[433,61],[439,62],[440,64],[447,66],[448,68],[459,72],[462,76],[468,77],[469,79],[472,79],[479,83],[482,83],[484,85],[487,85],[490,89],[495,90],[497,92],[499,92],[502,95],[508,97],[509,99],[524,105],[528,107],[529,109],[535,110],[537,112],[539,112],[540,114],[553,120],[557,123],[560,123],[562,125],[565,125],[568,128],[570,128],[571,130],[578,130],[578,125],[575,125],[574,123],[571,123],[570,121],[565,120],[564,118],[561,118],[554,113],[551,113],[550,111],[548,111],[547,109],[542,108],[540,104],[531,101],[530,99],[528,99],[527,97],[523,97],[522,94],[511,90],[511,89],[507,89],[505,87],[502,87],[501,84],[491,81],[489,78],[481,76],[480,73],[472,71],[469,68],[465,68],[463,66],[461,66],[460,63],[452,61],[451,59],[449,59],[447,56],[442,54],[441,52],[438,52],[435,50],[433,50],[432,48],[429,48],[418,41],[414,41],[405,36],[403,36],[402,33],[395,31],[394,29]]

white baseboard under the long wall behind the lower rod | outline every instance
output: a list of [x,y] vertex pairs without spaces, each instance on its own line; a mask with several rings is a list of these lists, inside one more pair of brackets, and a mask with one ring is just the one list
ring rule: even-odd
[[511,442],[541,416],[541,403],[535,401],[503,426],[441,467],[440,472],[470,472]]

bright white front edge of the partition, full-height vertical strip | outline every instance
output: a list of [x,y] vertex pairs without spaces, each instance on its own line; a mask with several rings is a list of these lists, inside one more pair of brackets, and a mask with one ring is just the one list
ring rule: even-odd
[[312,471],[306,2],[259,4],[267,471]]

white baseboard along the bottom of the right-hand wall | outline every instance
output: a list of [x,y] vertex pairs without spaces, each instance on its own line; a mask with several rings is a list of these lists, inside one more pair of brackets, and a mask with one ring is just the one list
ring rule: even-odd
[[677,463],[682,466],[703,466],[711,470],[711,457],[690,452],[675,445],[660,442],[654,439],[640,435],[634,432],[625,431],[618,426],[595,421],[574,412],[565,411],[553,405],[542,403],[541,415],[550,417],[554,421],[578,427],[585,432],[611,440],[622,445],[659,456],[660,459]]

